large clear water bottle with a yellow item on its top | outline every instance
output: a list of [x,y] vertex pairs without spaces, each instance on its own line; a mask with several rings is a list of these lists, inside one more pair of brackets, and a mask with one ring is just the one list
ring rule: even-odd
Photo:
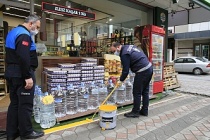
[[50,128],[56,124],[54,99],[47,93],[45,95],[40,102],[40,126]]

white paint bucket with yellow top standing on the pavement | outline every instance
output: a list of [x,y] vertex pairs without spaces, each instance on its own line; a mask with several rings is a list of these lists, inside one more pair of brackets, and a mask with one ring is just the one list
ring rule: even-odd
[[114,129],[117,121],[117,107],[114,105],[102,105],[99,107],[100,122],[102,129]]

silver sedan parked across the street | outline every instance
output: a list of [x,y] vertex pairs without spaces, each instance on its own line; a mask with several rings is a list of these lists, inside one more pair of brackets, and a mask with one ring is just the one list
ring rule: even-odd
[[210,63],[201,57],[186,56],[174,60],[176,72],[192,72],[195,75],[210,72]]

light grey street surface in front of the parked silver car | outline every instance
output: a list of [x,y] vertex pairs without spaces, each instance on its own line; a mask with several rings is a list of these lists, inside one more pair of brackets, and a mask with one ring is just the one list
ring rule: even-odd
[[210,73],[203,75],[178,74],[181,85],[176,91],[210,96]]

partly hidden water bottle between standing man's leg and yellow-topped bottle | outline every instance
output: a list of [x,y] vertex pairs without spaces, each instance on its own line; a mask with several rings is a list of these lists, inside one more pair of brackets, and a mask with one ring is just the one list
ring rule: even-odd
[[34,120],[36,123],[40,123],[40,102],[41,102],[42,91],[38,86],[35,87],[34,91]]

